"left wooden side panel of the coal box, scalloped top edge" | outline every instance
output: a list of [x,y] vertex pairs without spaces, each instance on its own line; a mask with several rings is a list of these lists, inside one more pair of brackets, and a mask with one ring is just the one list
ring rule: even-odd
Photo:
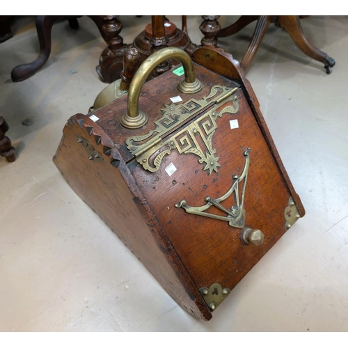
[[[84,121],[82,128],[78,120]],[[72,189],[116,232],[182,308],[209,320],[212,314],[109,137],[81,114],[70,118],[63,134],[54,163]],[[104,160],[89,161],[83,146],[77,142],[77,134],[90,141]],[[104,154],[105,147],[112,149],[111,155]],[[110,164],[115,160],[118,168]]]

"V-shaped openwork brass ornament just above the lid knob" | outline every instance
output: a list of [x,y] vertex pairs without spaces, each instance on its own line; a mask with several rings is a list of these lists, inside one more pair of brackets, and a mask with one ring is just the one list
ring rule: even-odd
[[[188,214],[195,214],[195,215],[200,215],[200,216],[205,216],[209,217],[212,219],[217,219],[217,220],[223,220],[223,221],[228,221],[228,224],[231,227],[235,228],[244,228],[244,223],[245,223],[245,209],[244,209],[244,193],[246,189],[246,180],[248,178],[248,170],[249,170],[249,152],[250,148],[248,150],[244,151],[244,157],[245,157],[245,163],[244,163],[244,168],[242,171],[242,174],[240,176],[238,175],[232,175],[232,180],[233,184],[231,188],[220,198],[215,198],[212,199],[210,197],[205,197],[205,201],[207,204],[202,205],[201,207],[190,207],[187,205],[186,200],[181,200],[180,203],[175,204],[175,207],[177,208],[183,208]],[[243,182],[242,186],[242,195],[239,200],[239,187],[238,184],[239,182]],[[235,194],[235,206],[230,207],[230,210],[226,209],[226,207],[223,207],[220,203],[223,200],[226,200],[226,198],[230,197],[232,192]],[[222,212],[226,213],[227,216],[221,216],[221,215],[216,215],[216,214],[210,214],[205,212],[205,210],[209,209],[209,207],[214,207],[220,209]]]

